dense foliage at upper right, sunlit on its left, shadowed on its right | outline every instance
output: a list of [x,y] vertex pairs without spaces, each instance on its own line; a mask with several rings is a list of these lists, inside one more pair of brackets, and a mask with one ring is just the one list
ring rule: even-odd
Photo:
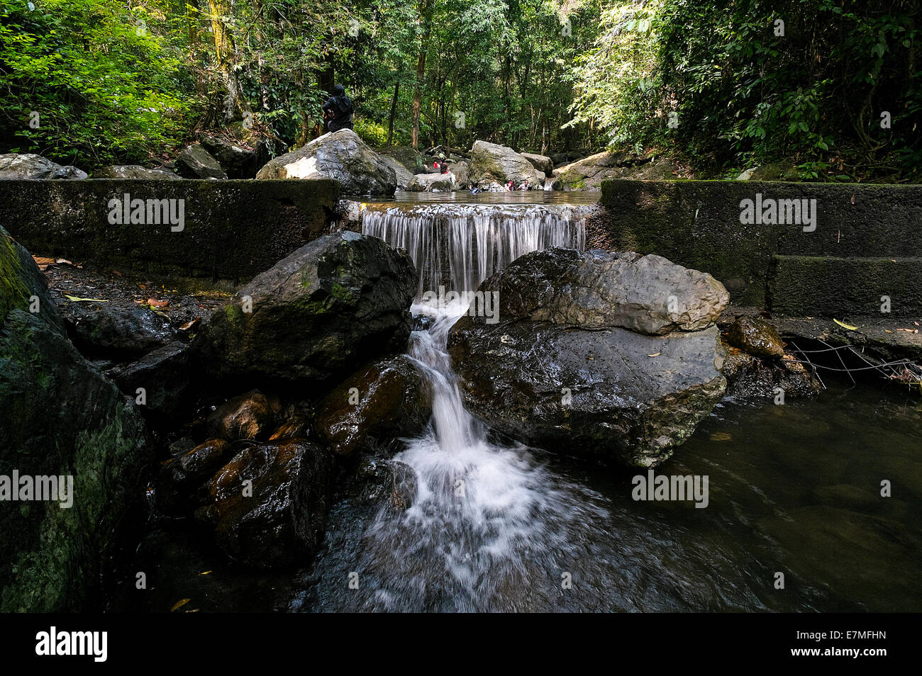
[[848,178],[848,160],[853,173],[914,172],[920,12],[913,0],[616,2],[577,66],[574,110],[615,146],[671,146],[717,169],[794,157],[811,180]]

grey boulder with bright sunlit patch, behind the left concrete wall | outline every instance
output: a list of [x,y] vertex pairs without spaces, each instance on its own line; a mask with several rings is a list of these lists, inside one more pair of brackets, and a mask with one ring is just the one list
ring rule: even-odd
[[270,159],[257,179],[333,179],[351,195],[392,195],[396,172],[351,129],[324,134],[298,150]]

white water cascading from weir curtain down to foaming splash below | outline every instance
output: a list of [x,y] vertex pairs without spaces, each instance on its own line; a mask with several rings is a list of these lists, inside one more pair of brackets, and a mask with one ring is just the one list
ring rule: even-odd
[[[582,247],[576,207],[431,204],[369,210],[362,231],[409,251],[420,294],[450,283],[476,289],[518,256],[549,246]],[[382,611],[523,611],[558,602],[561,576],[584,556],[589,532],[609,512],[597,494],[547,470],[521,444],[494,443],[464,406],[446,351],[463,300],[414,303],[429,328],[411,334],[408,355],[432,391],[429,429],[405,439],[394,460],[417,474],[406,511],[382,509],[361,537],[360,589],[340,608]],[[589,568],[595,566],[588,564]],[[585,568],[586,565],[584,564]],[[584,570],[601,582],[603,575]]]

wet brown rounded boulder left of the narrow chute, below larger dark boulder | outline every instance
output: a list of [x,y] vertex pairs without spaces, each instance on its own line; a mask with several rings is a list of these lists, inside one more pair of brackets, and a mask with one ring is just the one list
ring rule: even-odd
[[362,368],[317,406],[317,433],[337,455],[419,434],[432,412],[431,391],[406,355]]

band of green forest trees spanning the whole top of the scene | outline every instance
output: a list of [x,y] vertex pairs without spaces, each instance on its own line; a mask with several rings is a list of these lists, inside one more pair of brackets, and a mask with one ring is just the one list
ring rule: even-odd
[[372,146],[668,153],[720,175],[917,176],[916,0],[0,0],[0,152],[84,165],[347,88]]

